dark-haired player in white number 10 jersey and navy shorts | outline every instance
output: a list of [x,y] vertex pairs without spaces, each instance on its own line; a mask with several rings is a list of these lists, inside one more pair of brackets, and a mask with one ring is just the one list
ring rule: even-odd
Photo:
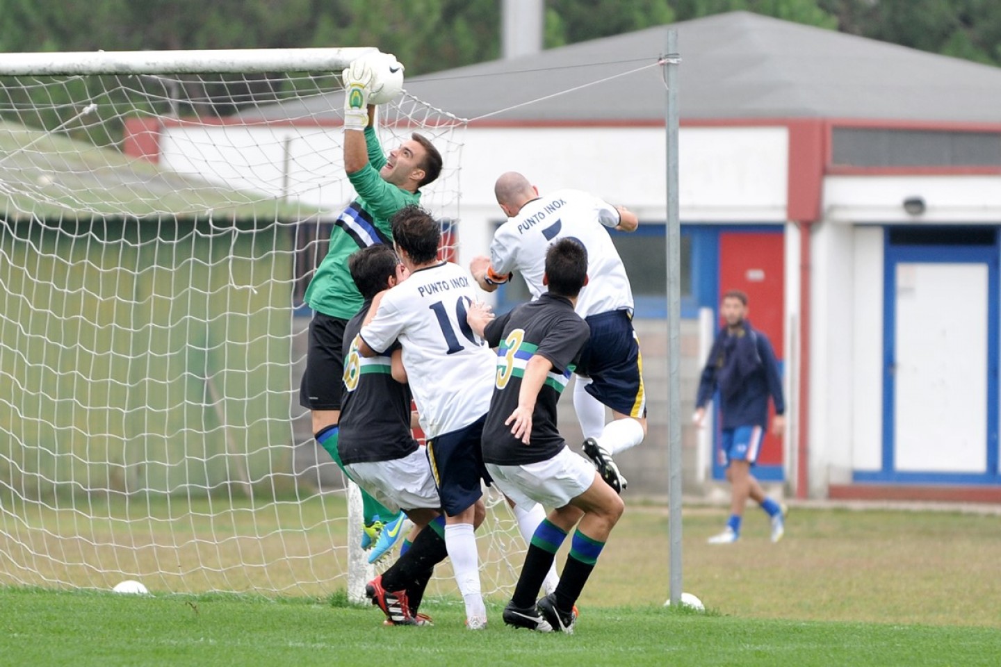
[[[479,442],[493,390],[496,356],[466,323],[476,297],[467,270],[437,259],[438,223],[417,206],[391,219],[396,251],[410,276],[372,301],[358,345],[374,356],[398,340],[403,366],[427,439],[427,457],[445,514],[444,538],[465,601],[466,624],[485,625],[473,526],[485,510],[480,480],[490,483]],[[518,513],[517,513],[518,514]],[[542,507],[518,514],[530,537]]]

